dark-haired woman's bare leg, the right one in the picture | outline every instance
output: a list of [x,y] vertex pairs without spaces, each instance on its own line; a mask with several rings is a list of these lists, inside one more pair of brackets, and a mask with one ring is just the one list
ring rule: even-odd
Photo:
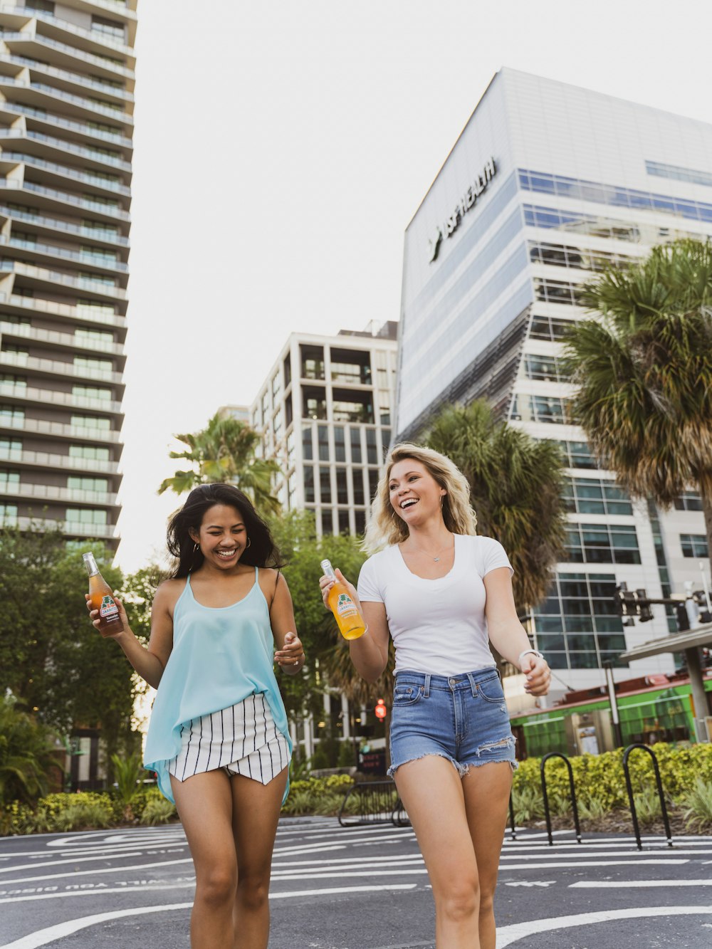
[[233,792],[233,834],[237,853],[237,893],[234,900],[234,946],[267,949],[270,938],[270,871],[287,769],[260,784],[236,774]]

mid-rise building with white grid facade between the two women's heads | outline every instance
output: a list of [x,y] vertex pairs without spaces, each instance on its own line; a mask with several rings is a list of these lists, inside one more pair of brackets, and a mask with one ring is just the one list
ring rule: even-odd
[[391,440],[396,330],[292,333],[251,406],[286,511],[313,511],[321,534],[361,534]]

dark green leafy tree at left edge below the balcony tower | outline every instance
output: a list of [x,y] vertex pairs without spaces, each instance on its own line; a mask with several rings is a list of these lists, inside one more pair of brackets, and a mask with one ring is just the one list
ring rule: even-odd
[[[0,535],[0,690],[61,735],[100,728],[109,754],[130,731],[134,690],[123,653],[89,623],[82,553],[122,585],[100,542],[66,543],[59,531]],[[112,648],[114,646],[114,648]]]

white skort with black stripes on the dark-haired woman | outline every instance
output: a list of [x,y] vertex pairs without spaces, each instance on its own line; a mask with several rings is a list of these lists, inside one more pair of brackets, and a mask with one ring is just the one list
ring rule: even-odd
[[269,784],[290,763],[287,739],[277,731],[261,692],[232,708],[193,718],[181,727],[180,740],[180,751],[168,765],[179,781],[222,768]]

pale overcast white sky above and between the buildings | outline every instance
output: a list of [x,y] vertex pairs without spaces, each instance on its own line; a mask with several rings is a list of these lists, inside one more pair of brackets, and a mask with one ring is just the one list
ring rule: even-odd
[[498,69],[712,121],[711,29],[708,0],[140,0],[117,563],[163,556],[174,436],[290,332],[398,319],[405,227]]

